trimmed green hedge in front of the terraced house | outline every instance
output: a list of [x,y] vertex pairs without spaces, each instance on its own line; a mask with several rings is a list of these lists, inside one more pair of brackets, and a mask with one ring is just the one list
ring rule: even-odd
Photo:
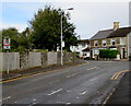
[[110,50],[110,49],[100,49],[99,57],[100,58],[117,58],[119,50]]

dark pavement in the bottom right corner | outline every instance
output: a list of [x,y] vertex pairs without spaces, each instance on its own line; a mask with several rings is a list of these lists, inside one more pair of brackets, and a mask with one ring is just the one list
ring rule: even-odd
[[123,75],[105,106],[109,105],[131,106],[131,72],[127,72]]

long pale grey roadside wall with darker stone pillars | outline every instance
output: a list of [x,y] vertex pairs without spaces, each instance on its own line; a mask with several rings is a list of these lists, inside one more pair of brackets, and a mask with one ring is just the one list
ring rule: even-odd
[[[36,67],[60,64],[60,52],[0,52],[0,70],[26,70]],[[63,63],[72,62],[73,54],[63,52]]]

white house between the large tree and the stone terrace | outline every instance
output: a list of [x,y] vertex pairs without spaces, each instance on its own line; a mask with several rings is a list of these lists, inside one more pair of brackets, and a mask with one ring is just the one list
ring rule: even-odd
[[70,50],[75,52],[80,58],[83,56],[90,57],[90,51],[85,51],[90,47],[88,39],[81,39],[78,43],[78,46],[71,46]]

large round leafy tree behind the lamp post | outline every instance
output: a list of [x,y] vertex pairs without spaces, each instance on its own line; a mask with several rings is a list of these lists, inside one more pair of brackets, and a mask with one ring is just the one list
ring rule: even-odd
[[57,46],[60,46],[61,13],[63,15],[64,48],[69,50],[70,45],[76,44],[75,26],[68,22],[70,14],[66,14],[61,9],[45,7],[44,10],[38,10],[34,19],[29,21],[33,30],[33,43],[37,49],[57,50]]

